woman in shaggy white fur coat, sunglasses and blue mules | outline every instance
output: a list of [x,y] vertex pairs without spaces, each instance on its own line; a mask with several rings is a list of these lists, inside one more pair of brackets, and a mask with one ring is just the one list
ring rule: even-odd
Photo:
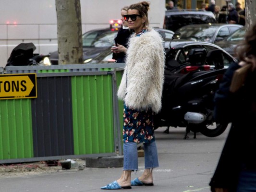
[[[153,168],[158,165],[158,152],[154,136],[153,115],[161,109],[164,83],[164,48],[162,38],[148,28],[146,1],[130,5],[124,15],[130,29],[126,53],[126,66],[118,89],[124,101],[123,172],[120,179],[101,189],[131,189],[131,186],[153,186]],[[132,171],[138,171],[137,144],[144,144],[145,169],[142,176],[131,180]]]

